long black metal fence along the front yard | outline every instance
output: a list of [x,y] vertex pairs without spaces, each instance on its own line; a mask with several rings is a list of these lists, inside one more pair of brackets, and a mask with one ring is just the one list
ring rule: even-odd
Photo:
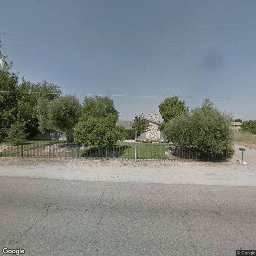
[[225,161],[220,152],[202,152],[192,147],[167,143],[117,142],[113,146],[95,147],[60,141],[27,141],[19,145],[0,143],[1,156],[45,158],[118,158],[159,161]]

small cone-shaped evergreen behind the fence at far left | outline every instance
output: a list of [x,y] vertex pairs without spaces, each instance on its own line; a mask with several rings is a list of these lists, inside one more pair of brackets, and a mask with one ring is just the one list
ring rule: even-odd
[[26,136],[28,136],[28,134],[25,133],[24,125],[22,122],[17,121],[11,125],[6,141],[18,145],[26,140]]

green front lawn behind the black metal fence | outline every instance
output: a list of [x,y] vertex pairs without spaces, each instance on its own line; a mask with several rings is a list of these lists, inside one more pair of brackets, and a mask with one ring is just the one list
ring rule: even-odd
[[[239,134],[240,135],[240,134]],[[52,147],[48,147],[52,145]],[[55,145],[53,145],[55,144]],[[56,145],[58,144],[58,145]],[[1,142],[0,146],[11,146],[11,143]],[[167,143],[129,143],[117,142],[116,145],[101,148],[100,152],[98,147],[89,146],[84,149],[78,149],[78,144],[67,144],[64,141],[53,140],[30,140],[23,143],[23,156],[24,157],[52,157],[52,158],[78,158],[78,157],[92,157],[92,158],[105,158],[106,153],[109,158],[135,158],[135,145],[136,145],[136,159],[166,159],[164,153],[165,146],[171,146]],[[186,148],[177,151],[173,158],[186,158],[194,159],[193,155]],[[12,146],[11,148],[0,152],[1,156],[22,156],[22,145]],[[208,159],[208,158],[207,158]],[[210,159],[210,158],[209,158]]]

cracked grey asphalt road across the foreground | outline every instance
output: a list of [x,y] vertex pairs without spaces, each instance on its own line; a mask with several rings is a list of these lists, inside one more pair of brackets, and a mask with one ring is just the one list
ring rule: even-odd
[[256,187],[0,177],[0,255],[236,255],[256,250]]

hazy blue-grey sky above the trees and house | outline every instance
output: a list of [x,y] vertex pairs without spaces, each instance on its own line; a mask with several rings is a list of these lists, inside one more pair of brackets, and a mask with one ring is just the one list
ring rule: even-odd
[[2,54],[19,82],[110,96],[119,119],[204,97],[256,120],[256,1],[1,0]]

